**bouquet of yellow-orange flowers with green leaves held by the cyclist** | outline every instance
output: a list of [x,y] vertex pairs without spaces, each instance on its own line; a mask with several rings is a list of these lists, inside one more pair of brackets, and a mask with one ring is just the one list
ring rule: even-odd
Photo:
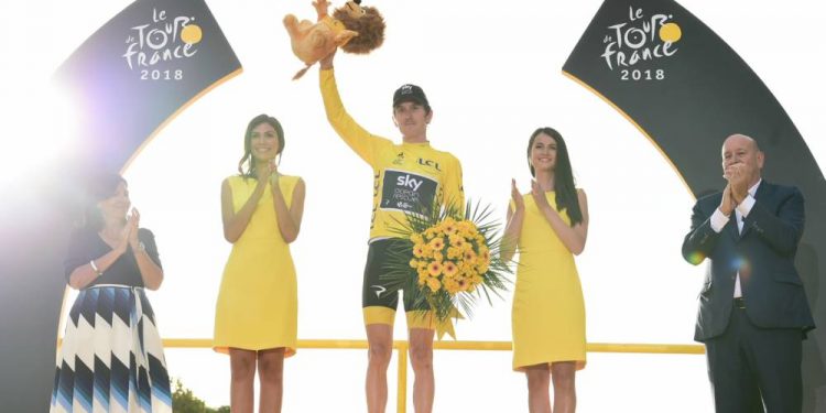
[[[432,214],[406,214],[406,222],[393,228],[407,242],[389,251],[388,271],[382,275],[388,290],[404,290],[413,305],[427,302],[437,323],[450,317],[471,316],[482,294],[501,297],[512,273],[499,257],[499,224],[491,208],[465,210],[434,208]],[[463,214],[464,213],[464,214]],[[457,309],[459,312],[457,312]]]

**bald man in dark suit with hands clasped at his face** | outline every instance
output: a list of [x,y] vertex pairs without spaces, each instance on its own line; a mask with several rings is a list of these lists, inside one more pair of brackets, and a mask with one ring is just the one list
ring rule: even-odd
[[757,142],[722,143],[726,187],[697,200],[683,257],[708,258],[694,339],[706,345],[718,413],[801,412],[801,348],[814,319],[794,268],[803,195],[763,181]]

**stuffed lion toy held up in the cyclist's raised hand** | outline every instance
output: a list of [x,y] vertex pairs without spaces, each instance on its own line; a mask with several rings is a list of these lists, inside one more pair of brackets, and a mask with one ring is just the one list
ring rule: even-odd
[[313,2],[318,21],[298,22],[292,14],[284,17],[284,28],[290,34],[293,53],[306,67],[293,76],[302,77],[307,69],[325,56],[341,47],[347,53],[367,54],[384,41],[384,19],[372,7],[361,7],[361,0],[350,0],[327,14],[327,0]]

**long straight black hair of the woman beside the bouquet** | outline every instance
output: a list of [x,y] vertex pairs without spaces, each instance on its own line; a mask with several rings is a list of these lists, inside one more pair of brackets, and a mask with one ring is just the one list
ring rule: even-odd
[[533,148],[533,142],[540,133],[547,134],[556,141],[556,166],[554,170],[556,210],[566,210],[568,218],[570,218],[570,226],[573,227],[583,221],[583,210],[579,208],[579,197],[576,193],[574,172],[570,169],[568,146],[565,145],[565,140],[562,139],[559,132],[553,128],[540,128],[531,134],[531,139],[528,141],[528,167],[531,170],[531,175],[535,177],[536,171],[531,164],[531,148]]

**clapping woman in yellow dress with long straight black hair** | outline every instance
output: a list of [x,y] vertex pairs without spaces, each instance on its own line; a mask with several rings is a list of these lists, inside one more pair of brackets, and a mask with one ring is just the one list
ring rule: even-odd
[[[522,195],[511,183],[503,251],[520,252],[513,293],[513,369],[528,377],[531,413],[576,410],[575,373],[585,367],[585,304],[574,256],[585,248],[588,204],[574,186],[562,135],[540,128],[528,142],[534,180]],[[514,244],[515,243],[515,244]]]

